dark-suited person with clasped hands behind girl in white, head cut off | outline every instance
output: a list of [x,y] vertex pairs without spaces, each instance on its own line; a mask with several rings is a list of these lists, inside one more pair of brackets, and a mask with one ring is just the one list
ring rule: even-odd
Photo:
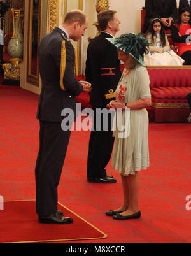
[[152,18],[160,18],[164,27],[170,29],[177,17],[176,0],[145,0],[145,10],[143,33],[147,31]]

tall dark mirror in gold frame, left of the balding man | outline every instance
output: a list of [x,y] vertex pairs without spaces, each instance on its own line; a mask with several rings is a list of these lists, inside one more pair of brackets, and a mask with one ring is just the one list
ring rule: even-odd
[[41,27],[41,0],[29,0],[27,82],[39,86],[38,45]]

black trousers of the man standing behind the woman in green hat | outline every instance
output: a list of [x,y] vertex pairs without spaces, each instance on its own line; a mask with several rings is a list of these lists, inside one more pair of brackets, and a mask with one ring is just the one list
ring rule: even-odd
[[[104,131],[103,118],[97,120],[96,108],[94,110],[94,118],[92,120],[94,129],[92,129],[89,140],[88,160],[87,160],[87,179],[105,178],[107,176],[106,166],[111,158],[113,150],[113,116],[114,112],[108,116],[108,131]],[[100,110],[100,109],[99,109]],[[101,131],[96,131],[97,122],[101,122]]]

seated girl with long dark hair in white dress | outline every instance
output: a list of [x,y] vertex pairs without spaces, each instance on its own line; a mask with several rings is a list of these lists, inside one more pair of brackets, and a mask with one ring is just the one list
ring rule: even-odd
[[145,34],[150,46],[144,55],[146,66],[148,65],[182,65],[181,59],[173,50],[170,49],[167,35],[164,32],[162,22],[159,18],[154,18],[150,22],[150,27]]

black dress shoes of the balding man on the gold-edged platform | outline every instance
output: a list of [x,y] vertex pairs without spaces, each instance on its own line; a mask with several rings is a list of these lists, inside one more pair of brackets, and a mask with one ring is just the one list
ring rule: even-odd
[[69,217],[62,217],[60,213],[56,212],[48,216],[39,216],[39,222],[46,224],[69,224],[73,222],[73,219]]

